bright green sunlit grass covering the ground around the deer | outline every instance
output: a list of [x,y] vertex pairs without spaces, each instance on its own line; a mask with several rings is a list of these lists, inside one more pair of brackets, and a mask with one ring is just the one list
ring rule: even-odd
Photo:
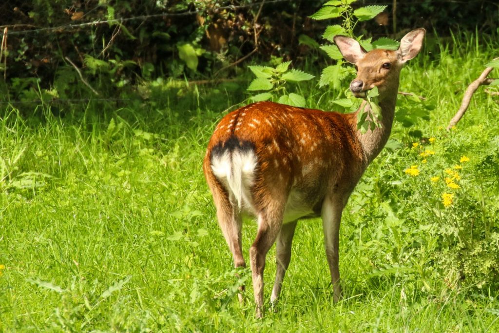
[[[438,150],[444,163],[459,159],[459,147],[470,145],[468,128],[482,124],[488,128],[484,133],[497,135],[497,98],[483,88],[456,132],[438,128],[447,126],[463,90],[495,56],[498,44],[468,35],[439,45],[408,64],[400,88],[427,97],[426,103],[435,106],[430,120],[409,128],[396,125],[392,137],[401,148],[382,152],[344,214],[340,270],[345,300],[332,302],[321,223],[301,222],[278,311],[263,320],[254,319],[250,287],[246,304],[237,302],[238,279],[201,168],[221,112],[241,102],[242,90],[171,88],[159,101],[60,106],[65,114],[60,117],[46,105],[33,115],[5,107],[0,120],[0,264],[5,266],[0,331],[497,332],[493,283],[446,287],[434,261],[411,263],[412,255],[424,259],[422,250],[393,245],[397,230],[406,242],[421,235],[414,216],[398,215],[395,229],[383,227],[383,202],[425,212],[425,198],[411,200],[421,184],[411,185],[413,179],[403,171],[417,159],[412,142],[433,136],[448,140],[457,148]],[[315,83],[299,89],[310,107],[321,109],[333,108],[330,99],[339,94],[319,90]],[[478,168],[467,175],[479,175]],[[483,191],[483,214],[497,220],[497,180],[480,177],[492,184]],[[412,192],[393,185],[397,181]],[[456,214],[477,210],[474,201],[458,202],[463,204]],[[451,221],[453,215],[446,216]],[[254,223],[246,221],[246,258],[254,235]],[[431,250],[438,235],[424,235],[424,249]],[[394,265],[390,273],[384,266],[402,263],[401,258],[409,273],[394,273]],[[264,276],[266,302],[274,262],[272,249]],[[242,276],[250,286],[248,270]]]

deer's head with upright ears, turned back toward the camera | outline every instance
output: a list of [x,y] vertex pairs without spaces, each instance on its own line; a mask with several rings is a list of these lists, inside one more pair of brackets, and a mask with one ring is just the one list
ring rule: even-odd
[[379,99],[396,96],[399,74],[404,63],[421,49],[426,30],[419,28],[406,34],[398,50],[373,49],[367,52],[353,38],[337,35],[334,42],[343,57],[357,68],[357,77],[350,83],[355,97],[366,97],[366,91],[378,87]]

